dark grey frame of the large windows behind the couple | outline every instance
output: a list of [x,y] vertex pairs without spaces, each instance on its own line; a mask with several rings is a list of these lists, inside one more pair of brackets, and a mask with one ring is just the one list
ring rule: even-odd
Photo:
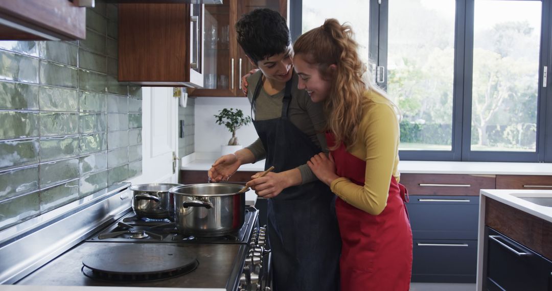
[[[387,75],[389,1],[370,0],[369,11],[369,56],[376,66],[385,67]],[[540,35],[539,89],[537,95],[537,141],[535,152],[505,152],[471,150],[471,94],[474,45],[475,0],[456,0],[455,38],[454,38],[454,82],[452,149],[448,150],[400,150],[401,160],[433,161],[500,161],[500,162],[552,162],[552,78],[548,78],[543,87],[543,68],[552,71],[552,0],[542,3],[542,22]],[[293,40],[301,33],[302,0],[290,1],[290,28]],[[341,20],[340,21],[345,21]],[[353,28],[354,29],[354,28]],[[385,82],[379,84],[387,88]],[[547,150],[548,148],[548,150]]]

